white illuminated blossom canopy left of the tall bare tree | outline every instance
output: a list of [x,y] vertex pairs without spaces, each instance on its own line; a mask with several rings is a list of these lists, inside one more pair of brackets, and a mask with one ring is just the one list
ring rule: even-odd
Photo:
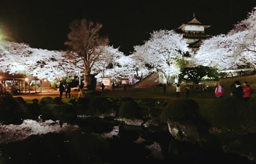
[[1,41],[0,61],[2,72],[25,73],[50,81],[76,73],[75,67],[66,60],[62,51],[32,48],[23,43]]

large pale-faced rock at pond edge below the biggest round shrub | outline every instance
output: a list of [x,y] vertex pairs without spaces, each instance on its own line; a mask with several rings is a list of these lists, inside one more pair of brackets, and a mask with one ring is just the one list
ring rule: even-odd
[[194,123],[178,123],[167,121],[169,132],[175,139],[179,141],[187,141],[195,143],[199,140],[200,135],[197,126]]

